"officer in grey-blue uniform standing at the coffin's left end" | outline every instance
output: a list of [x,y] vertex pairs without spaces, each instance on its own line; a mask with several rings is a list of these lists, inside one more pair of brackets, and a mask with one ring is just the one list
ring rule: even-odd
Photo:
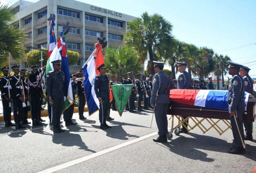
[[163,72],[164,63],[156,61],[153,61],[153,63],[156,74],[153,78],[151,106],[154,107],[155,110],[156,124],[159,135],[157,138],[154,138],[153,141],[167,142],[167,109],[170,103],[170,79]]

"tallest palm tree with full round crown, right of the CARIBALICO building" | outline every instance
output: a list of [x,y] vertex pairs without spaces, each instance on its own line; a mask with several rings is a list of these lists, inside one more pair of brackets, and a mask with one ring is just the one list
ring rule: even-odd
[[142,62],[148,60],[147,74],[155,74],[153,61],[158,61],[156,53],[162,55],[167,46],[174,45],[173,26],[159,14],[144,12],[141,17],[133,19],[128,27],[123,43],[137,50]]

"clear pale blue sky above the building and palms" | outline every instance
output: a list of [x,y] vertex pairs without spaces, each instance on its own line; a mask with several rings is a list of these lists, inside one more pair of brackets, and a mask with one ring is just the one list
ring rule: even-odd
[[228,55],[232,61],[249,66],[249,74],[256,78],[255,0],[79,1],[135,17],[145,11],[159,13],[172,23],[177,39]]

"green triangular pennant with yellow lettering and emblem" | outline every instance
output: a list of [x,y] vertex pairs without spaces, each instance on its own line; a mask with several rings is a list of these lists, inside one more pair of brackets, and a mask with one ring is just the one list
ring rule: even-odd
[[116,101],[117,110],[120,116],[124,111],[124,108],[129,100],[129,97],[132,93],[133,85],[110,85],[113,93],[113,97]]

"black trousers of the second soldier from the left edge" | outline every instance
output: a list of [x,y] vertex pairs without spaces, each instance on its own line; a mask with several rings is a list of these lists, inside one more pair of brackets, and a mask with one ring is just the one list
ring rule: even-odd
[[12,98],[13,117],[15,123],[20,123],[23,117],[22,101],[18,98]]

